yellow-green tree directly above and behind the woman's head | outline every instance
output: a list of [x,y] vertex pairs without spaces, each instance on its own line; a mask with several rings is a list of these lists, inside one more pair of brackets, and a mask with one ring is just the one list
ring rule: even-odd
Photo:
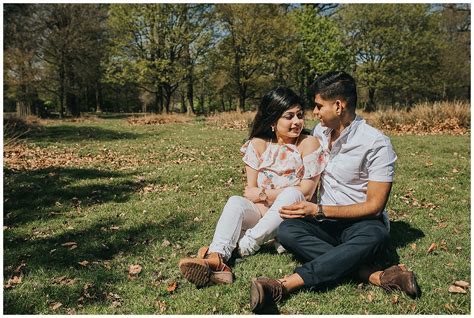
[[[271,83],[288,51],[281,50],[288,41],[285,8],[268,4],[219,4],[217,18],[224,38],[218,43],[221,70],[229,74],[233,91],[239,97],[238,111],[258,91],[259,85]],[[227,86],[227,85],[223,85]],[[228,87],[228,86],[227,86]]]

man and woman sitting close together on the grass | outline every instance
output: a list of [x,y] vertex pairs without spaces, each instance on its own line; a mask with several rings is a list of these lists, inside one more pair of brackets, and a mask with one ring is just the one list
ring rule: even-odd
[[[290,292],[318,288],[357,274],[385,290],[420,294],[412,271],[394,265],[376,270],[372,261],[389,239],[385,204],[396,155],[388,137],[355,113],[354,79],[329,72],[312,85],[314,136],[303,134],[303,102],[292,90],[267,93],[242,146],[247,186],[222,211],[209,247],[179,262],[198,287],[233,282],[228,264],[257,252],[276,237],[303,262],[280,279],[252,280],[250,307],[266,312]],[[311,198],[319,186],[320,201]]]

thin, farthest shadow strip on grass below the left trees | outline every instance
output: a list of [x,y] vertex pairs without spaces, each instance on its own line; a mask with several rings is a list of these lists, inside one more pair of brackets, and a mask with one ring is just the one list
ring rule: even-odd
[[87,140],[107,141],[117,139],[136,139],[133,133],[120,132],[95,126],[60,125],[44,126],[40,131],[31,133],[28,138],[33,142],[84,142]]

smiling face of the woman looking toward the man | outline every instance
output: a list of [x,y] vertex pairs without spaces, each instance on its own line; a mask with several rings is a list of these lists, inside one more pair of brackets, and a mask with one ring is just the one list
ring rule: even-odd
[[298,138],[303,130],[304,112],[301,106],[296,105],[286,110],[275,124],[275,134],[277,139]]

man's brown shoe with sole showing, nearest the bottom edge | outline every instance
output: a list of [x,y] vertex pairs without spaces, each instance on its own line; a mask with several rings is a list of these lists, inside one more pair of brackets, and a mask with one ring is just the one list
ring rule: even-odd
[[283,298],[283,293],[283,285],[276,279],[253,279],[250,286],[250,310],[260,313],[267,307],[275,306]]

